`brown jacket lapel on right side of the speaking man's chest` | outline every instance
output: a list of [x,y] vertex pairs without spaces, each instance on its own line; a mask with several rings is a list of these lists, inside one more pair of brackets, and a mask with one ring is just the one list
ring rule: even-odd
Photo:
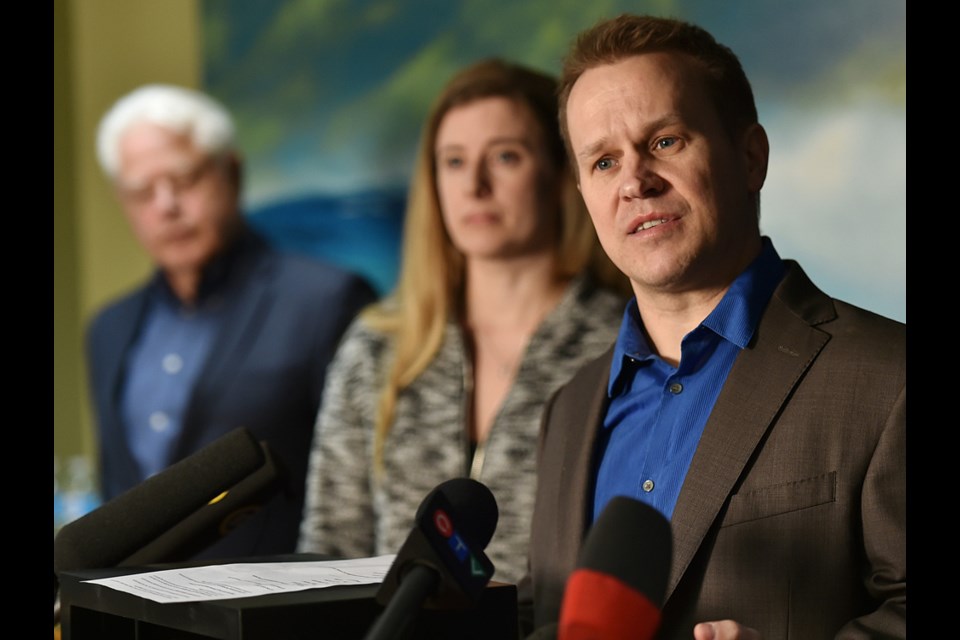
[[764,434],[829,336],[824,318],[832,303],[794,267],[777,288],[751,345],[734,363],[690,464],[671,518],[673,565],[667,598],[676,588]]

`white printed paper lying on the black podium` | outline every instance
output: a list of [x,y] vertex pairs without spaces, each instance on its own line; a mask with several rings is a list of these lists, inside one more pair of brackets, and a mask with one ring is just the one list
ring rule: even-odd
[[247,598],[383,582],[396,555],[313,562],[249,562],[132,573],[85,580],[155,602]]

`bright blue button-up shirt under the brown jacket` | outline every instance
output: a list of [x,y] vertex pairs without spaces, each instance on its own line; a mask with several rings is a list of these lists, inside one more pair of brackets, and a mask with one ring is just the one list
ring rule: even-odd
[[676,368],[651,351],[637,300],[630,301],[614,348],[610,405],[598,438],[594,519],[618,495],[646,502],[670,518],[720,389],[784,272],[764,237],[760,255],[684,336]]

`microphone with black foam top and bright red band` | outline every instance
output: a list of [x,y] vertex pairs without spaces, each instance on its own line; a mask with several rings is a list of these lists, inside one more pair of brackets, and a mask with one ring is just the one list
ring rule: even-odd
[[612,498],[567,580],[558,639],[653,638],[672,555],[670,523],[659,511],[633,498]]

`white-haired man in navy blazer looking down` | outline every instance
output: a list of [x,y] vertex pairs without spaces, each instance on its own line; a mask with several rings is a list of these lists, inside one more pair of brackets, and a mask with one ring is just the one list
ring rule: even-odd
[[210,96],[141,87],[104,115],[97,151],[157,267],[88,332],[103,498],[244,427],[286,490],[197,557],[292,553],[327,365],[375,292],[247,225],[233,120]]

